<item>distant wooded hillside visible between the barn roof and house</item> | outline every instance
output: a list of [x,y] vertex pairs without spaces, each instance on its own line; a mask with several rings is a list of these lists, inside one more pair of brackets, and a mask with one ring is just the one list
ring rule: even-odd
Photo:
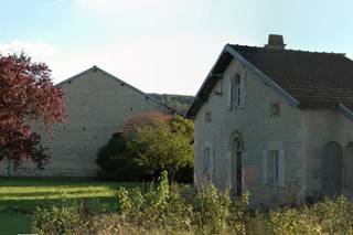
[[149,94],[153,98],[162,102],[171,108],[174,108],[178,113],[184,115],[192,102],[194,100],[194,96],[185,96],[185,95],[171,95],[171,94]]

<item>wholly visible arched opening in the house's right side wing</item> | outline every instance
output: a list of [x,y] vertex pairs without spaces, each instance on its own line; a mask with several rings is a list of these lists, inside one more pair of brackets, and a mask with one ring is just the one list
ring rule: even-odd
[[342,161],[340,143],[327,143],[322,157],[322,191],[328,196],[342,193]]

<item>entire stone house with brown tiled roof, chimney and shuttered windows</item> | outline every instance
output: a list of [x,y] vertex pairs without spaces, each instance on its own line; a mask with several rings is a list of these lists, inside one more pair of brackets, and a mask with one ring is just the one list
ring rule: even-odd
[[188,111],[194,181],[256,205],[352,195],[353,61],[344,54],[227,44]]

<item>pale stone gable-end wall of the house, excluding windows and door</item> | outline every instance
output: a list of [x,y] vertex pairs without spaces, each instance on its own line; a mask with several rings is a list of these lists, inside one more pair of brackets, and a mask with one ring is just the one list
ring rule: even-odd
[[[303,183],[300,110],[289,106],[279,93],[247,70],[245,108],[229,110],[229,76],[235,72],[242,74],[243,70],[246,67],[233,60],[195,117],[195,183],[203,175],[203,148],[207,145],[214,148],[216,160],[213,182],[221,189],[229,185],[229,142],[231,136],[237,131],[244,140],[244,188],[249,190],[252,203],[281,203],[288,185]],[[271,102],[280,103],[280,117],[270,117]],[[211,111],[210,122],[205,121],[207,111]],[[268,149],[286,151],[285,188],[263,182],[263,156]]]

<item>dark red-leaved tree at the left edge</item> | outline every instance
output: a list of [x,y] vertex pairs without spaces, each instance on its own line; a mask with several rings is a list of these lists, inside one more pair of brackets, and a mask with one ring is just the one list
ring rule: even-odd
[[49,156],[32,125],[50,130],[64,117],[64,94],[53,86],[45,64],[33,63],[23,53],[0,54],[0,162],[9,159],[17,168],[32,160],[43,169]]

